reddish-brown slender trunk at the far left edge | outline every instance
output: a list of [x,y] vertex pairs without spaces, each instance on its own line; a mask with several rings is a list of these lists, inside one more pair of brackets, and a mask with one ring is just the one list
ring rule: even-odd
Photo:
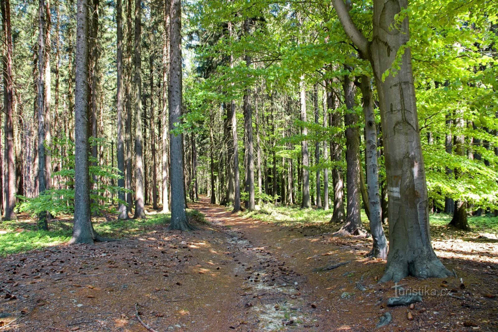
[[[10,25],[10,1],[1,0],[2,30],[5,36],[3,57],[3,91],[5,107],[4,127],[4,157],[5,157],[5,183],[4,183],[4,219],[15,219],[15,161],[14,161],[14,123],[13,123],[13,84],[12,84],[12,33]],[[1,164],[0,164],[1,165]],[[1,180],[0,180],[1,185]],[[1,204],[1,201],[0,201]]]

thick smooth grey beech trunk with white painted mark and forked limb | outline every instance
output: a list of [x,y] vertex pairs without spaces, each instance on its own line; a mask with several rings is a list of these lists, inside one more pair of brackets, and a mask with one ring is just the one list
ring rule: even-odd
[[[379,96],[389,195],[389,254],[382,282],[453,275],[437,258],[429,232],[429,201],[420,143],[408,17],[393,26],[407,0],[373,1],[373,38],[354,24],[343,0],[332,0],[346,34],[373,68]],[[396,74],[383,74],[397,59]]]

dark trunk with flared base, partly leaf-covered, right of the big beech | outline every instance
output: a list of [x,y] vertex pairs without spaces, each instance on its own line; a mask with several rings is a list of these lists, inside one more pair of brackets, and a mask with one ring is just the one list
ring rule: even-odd
[[[465,120],[463,118],[464,112],[463,110],[458,110],[455,115],[457,117],[455,119],[455,129],[462,132],[465,127]],[[465,156],[465,135],[455,135],[454,140],[455,154],[462,157]],[[461,170],[455,168],[454,171],[455,178],[458,178],[458,176],[461,174]],[[469,231],[470,226],[467,220],[467,202],[462,199],[457,199],[455,200],[454,204],[453,218],[451,219],[449,224],[457,229]]]

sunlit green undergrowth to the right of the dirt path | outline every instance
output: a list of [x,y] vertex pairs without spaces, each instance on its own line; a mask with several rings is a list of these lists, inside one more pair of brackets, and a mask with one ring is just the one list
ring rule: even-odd
[[[230,209],[231,210],[231,209]],[[299,206],[281,206],[273,204],[264,204],[256,207],[256,211],[240,212],[241,216],[253,218],[281,226],[288,227],[305,227],[320,228],[321,231],[336,231],[341,225],[331,224],[329,221],[332,217],[332,209],[324,211],[323,209],[301,209]],[[361,215],[363,224],[369,231],[369,220],[364,210]],[[430,214],[431,236],[434,239],[449,239],[460,237],[479,236],[481,234],[498,234],[498,217],[481,216],[469,217],[471,231],[457,230],[448,226],[452,216],[445,213]],[[384,226],[388,234],[387,225]]]

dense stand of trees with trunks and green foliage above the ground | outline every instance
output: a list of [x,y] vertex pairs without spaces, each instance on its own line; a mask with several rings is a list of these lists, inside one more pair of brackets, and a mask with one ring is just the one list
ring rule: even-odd
[[446,276],[429,213],[469,229],[498,209],[494,9],[2,0],[3,216],[74,213],[72,242],[93,243],[116,207],[192,230],[201,193],[330,208],[336,236],[372,233],[383,280]]

